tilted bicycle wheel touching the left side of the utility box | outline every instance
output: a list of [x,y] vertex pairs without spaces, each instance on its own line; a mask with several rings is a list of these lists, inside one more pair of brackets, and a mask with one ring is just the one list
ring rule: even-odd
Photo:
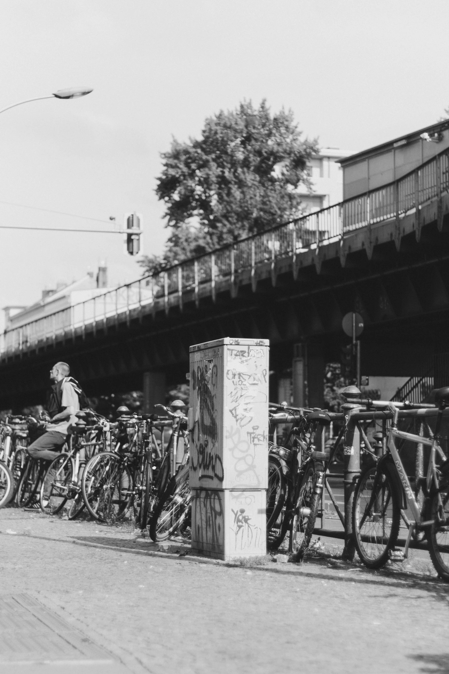
[[160,499],[149,524],[153,541],[165,541],[182,526],[191,514],[191,489],[188,483],[188,465],[170,481],[165,495]]

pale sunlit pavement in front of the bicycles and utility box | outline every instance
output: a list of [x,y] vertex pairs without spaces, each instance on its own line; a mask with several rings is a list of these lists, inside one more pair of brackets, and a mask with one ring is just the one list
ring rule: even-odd
[[449,586],[427,559],[231,566],[12,508],[0,544],[1,674],[449,672]]

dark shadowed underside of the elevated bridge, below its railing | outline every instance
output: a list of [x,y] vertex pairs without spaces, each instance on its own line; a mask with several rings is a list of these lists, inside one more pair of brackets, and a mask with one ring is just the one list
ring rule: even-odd
[[[364,317],[362,369],[366,374],[413,374],[419,359],[448,350],[449,218],[425,222],[399,241],[387,237],[341,257],[322,259],[298,270],[279,266],[271,276],[240,278],[237,292],[221,290],[195,303],[131,314],[113,326],[86,326],[65,340],[48,340],[38,349],[16,353],[0,363],[0,408],[40,402],[48,370],[57,360],[70,363],[88,394],[142,388],[144,372],[164,371],[168,385],[184,382],[188,347],[223,336],[269,338],[273,367],[291,368],[293,344],[308,344],[316,357],[337,361],[347,311]],[[411,224],[409,225],[411,227]],[[405,230],[404,230],[405,231]],[[318,251],[319,252],[319,251]],[[312,353],[311,351],[311,353]],[[282,361],[282,362],[281,362]]]

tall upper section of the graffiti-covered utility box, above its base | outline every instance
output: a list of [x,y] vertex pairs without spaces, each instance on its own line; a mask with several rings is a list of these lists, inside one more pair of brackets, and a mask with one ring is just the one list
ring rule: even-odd
[[190,348],[191,489],[267,489],[269,340]]

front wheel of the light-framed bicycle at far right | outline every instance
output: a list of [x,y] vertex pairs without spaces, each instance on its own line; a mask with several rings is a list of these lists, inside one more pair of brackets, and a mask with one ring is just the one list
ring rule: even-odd
[[355,487],[352,530],[357,553],[369,569],[378,569],[396,544],[401,510],[386,468],[368,466]]

